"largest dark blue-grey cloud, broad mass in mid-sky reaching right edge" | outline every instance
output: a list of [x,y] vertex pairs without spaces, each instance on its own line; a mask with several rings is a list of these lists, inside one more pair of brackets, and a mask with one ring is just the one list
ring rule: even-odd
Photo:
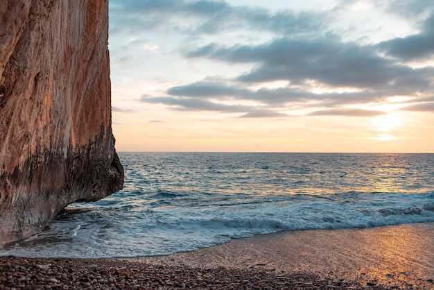
[[315,80],[332,87],[407,87],[431,85],[433,68],[413,69],[379,56],[372,46],[341,42],[337,37],[311,40],[279,38],[261,45],[218,46],[209,44],[189,52],[189,58],[211,58],[230,63],[256,63],[241,82],[288,80],[303,85]]

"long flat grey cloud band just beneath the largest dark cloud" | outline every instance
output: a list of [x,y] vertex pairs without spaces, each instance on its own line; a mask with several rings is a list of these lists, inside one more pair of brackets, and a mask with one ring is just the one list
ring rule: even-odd
[[[302,106],[308,108],[313,101],[313,108],[318,106],[336,107],[342,104],[361,103],[368,96],[374,100],[378,94],[372,92],[354,92],[341,94],[314,94],[290,87],[277,89],[236,89],[234,86],[223,83],[198,82],[191,85],[177,86],[168,89],[171,96],[142,95],[139,101],[142,103],[159,103],[167,105],[171,110],[177,111],[209,111],[243,113],[241,118],[265,118],[265,117],[289,117],[290,115],[279,112],[285,105]],[[223,98],[224,97],[224,98]],[[217,103],[218,100],[232,101],[258,101],[257,105],[227,105]],[[288,109],[286,109],[288,110]],[[309,116],[347,116],[347,117],[374,117],[385,114],[376,110],[360,109],[327,109],[317,110]]]

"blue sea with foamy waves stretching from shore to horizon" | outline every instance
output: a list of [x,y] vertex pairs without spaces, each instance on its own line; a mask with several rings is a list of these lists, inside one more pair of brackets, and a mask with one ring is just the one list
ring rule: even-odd
[[0,255],[146,257],[279,231],[434,222],[434,154],[119,153],[122,191]]

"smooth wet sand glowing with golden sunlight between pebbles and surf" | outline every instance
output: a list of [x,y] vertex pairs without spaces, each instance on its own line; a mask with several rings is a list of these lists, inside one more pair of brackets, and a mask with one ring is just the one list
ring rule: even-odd
[[137,260],[202,268],[302,271],[363,284],[434,289],[434,223],[278,232],[191,253]]

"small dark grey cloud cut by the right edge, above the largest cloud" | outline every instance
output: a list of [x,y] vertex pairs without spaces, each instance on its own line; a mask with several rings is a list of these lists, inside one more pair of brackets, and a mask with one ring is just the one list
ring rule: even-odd
[[388,55],[404,61],[424,60],[433,57],[434,15],[425,20],[421,33],[381,42],[378,47]]

